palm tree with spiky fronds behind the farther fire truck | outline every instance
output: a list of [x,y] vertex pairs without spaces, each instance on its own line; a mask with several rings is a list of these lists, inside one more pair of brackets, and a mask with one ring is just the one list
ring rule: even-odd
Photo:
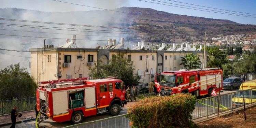
[[181,57],[181,64],[184,66],[184,69],[199,69],[201,68],[202,62],[200,61],[198,55],[186,54],[184,57]]

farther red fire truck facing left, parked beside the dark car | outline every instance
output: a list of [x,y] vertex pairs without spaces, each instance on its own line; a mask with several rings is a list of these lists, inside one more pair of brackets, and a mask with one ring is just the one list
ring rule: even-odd
[[[212,90],[222,90],[222,70],[219,68],[181,69],[165,71],[155,77],[159,95],[169,96],[176,93],[191,93],[198,96],[211,96]],[[219,88],[220,86],[220,88]]]

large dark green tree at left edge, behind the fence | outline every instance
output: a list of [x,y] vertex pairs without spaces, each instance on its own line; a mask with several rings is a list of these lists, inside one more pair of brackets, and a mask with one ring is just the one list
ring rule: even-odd
[[35,96],[37,84],[19,63],[0,71],[0,100]]

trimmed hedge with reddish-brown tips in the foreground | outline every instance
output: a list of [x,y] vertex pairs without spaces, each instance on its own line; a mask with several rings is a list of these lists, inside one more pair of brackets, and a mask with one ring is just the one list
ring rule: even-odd
[[196,127],[191,121],[196,98],[191,94],[148,97],[128,108],[132,128]]

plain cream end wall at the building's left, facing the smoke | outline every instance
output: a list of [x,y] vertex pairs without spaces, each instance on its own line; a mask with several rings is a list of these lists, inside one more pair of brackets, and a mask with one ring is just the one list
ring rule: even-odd
[[[51,56],[51,62],[48,55]],[[31,52],[31,75],[37,82],[58,80],[54,77],[57,73],[56,52]]]

